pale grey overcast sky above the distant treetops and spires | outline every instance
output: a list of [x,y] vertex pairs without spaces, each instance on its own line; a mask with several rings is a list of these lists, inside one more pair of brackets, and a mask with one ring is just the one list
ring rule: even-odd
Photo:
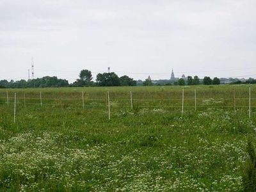
[[0,0],[0,79],[256,77],[255,0]]

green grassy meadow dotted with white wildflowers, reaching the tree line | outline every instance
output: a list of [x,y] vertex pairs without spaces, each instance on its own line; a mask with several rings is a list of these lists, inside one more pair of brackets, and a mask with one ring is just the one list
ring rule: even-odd
[[0,191],[243,191],[251,90],[250,118],[247,85],[0,90]]

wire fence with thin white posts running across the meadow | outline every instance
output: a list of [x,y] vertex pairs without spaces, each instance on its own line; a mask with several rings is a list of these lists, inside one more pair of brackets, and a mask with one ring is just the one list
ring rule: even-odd
[[[80,94],[69,93],[68,98],[63,94],[60,94],[60,97],[56,97],[56,95],[44,95],[42,92],[36,93],[36,95],[35,92],[33,92],[33,94],[25,92],[2,92],[0,94],[0,105],[6,105],[10,108],[13,107],[14,122],[17,106],[23,108],[26,106],[54,106],[61,108],[75,107],[86,110],[92,110],[94,108],[108,112],[109,119],[111,118],[111,111],[115,109],[173,109],[180,111],[180,113],[183,114],[184,111],[197,111],[204,110],[205,108],[220,108],[234,111],[247,110],[249,118],[251,117],[252,112],[256,111],[256,97],[252,97],[251,88],[248,90],[247,97],[236,97],[236,92],[234,90],[232,98],[227,98],[227,95],[224,97],[220,97],[221,95],[218,95],[216,98],[205,97],[204,93],[201,93],[200,97],[198,97],[196,90],[194,90],[192,93],[191,91],[185,92],[184,89],[182,89],[182,92],[179,94],[176,92],[175,97],[170,97],[168,94],[164,95],[163,91],[154,93],[154,95],[151,95],[152,97],[150,98],[146,97],[147,93],[141,93],[138,95],[138,93],[133,94],[132,92],[128,92],[126,94],[123,93],[124,95],[122,96],[125,98],[117,97],[115,92],[101,92],[98,95],[93,95],[98,98],[91,98],[89,97],[88,93],[85,92],[81,92]],[[113,97],[111,97],[111,95],[113,95]],[[141,95],[143,95],[142,98]]]

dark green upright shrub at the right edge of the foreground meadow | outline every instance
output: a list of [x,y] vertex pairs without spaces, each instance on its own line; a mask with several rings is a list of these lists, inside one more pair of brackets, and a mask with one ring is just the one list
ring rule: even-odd
[[249,160],[247,161],[246,168],[243,175],[244,191],[256,191],[256,155],[255,148],[252,141],[248,141],[247,152]]

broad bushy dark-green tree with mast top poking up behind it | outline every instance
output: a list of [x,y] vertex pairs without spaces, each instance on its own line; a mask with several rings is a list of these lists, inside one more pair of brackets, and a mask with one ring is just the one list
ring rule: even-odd
[[120,86],[120,78],[114,73],[97,74],[97,83],[99,86]]

